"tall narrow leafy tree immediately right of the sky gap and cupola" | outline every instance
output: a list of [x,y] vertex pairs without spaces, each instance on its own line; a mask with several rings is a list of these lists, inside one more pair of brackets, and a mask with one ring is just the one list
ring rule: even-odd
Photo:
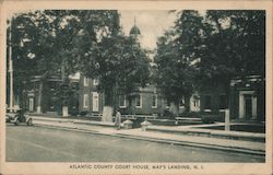
[[157,42],[155,63],[156,84],[178,115],[181,100],[189,110],[190,95],[194,89],[195,66],[199,55],[202,18],[197,11],[182,11],[173,31],[165,33]]

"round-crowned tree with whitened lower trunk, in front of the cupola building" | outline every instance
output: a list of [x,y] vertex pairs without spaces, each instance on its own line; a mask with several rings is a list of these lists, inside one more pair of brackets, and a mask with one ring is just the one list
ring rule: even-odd
[[121,33],[103,37],[90,52],[81,60],[81,70],[99,80],[98,89],[105,94],[104,120],[111,120],[116,97],[145,86],[150,75],[149,58],[132,37]]

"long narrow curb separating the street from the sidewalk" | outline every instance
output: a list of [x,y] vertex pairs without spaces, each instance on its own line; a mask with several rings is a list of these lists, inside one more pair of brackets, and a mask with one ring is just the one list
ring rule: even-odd
[[131,135],[126,135],[126,133],[105,133],[105,132],[99,132],[97,130],[92,130],[92,129],[78,129],[76,127],[64,127],[64,126],[60,127],[60,126],[50,126],[50,125],[43,125],[43,124],[35,124],[35,126],[54,128],[54,129],[63,129],[63,130],[70,130],[70,131],[79,131],[79,132],[93,133],[93,135],[135,139],[135,140],[158,142],[158,143],[165,143],[165,144],[197,147],[197,148],[203,148],[203,149],[232,151],[232,152],[247,153],[247,154],[262,155],[262,156],[265,155],[265,152],[262,150],[251,150],[251,149],[242,149],[242,148],[236,148],[236,147],[223,147],[223,145],[197,143],[197,142],[189,142],[189,141],[177,141],[177,140],[171,140],[171,139],[157,139],[157,138],[143,137],[143,136],[131,136]]

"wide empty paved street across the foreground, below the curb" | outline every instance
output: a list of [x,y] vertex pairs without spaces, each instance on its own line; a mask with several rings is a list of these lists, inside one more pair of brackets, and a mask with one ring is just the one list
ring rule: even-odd
[[7,125],[8,162],[264,162],[264,156]]

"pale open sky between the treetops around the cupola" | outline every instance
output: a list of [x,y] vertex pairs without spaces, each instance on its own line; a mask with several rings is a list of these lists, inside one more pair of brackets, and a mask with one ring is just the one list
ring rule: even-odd
[[156,48],[157,37],[164,34],[164,31],[174,26],[177,19],[176,13],[168,13],[166,10],[140,10],[140,11],[119,11],[120,23],[126,35],[129,35],[131,27],[135,24],[141,32],[141,46],[149,49]]

